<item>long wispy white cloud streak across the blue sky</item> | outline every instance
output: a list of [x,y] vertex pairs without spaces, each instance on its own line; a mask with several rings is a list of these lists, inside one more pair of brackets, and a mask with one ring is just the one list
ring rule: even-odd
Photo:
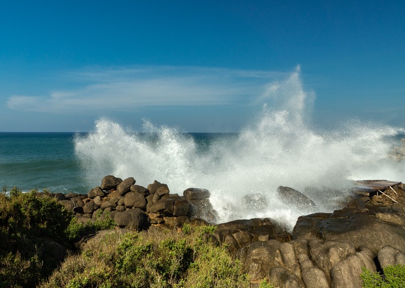
[[58,75],[75,88],[47,95],[12,95],[13,110],[49,113],[134,111],[151,106],[248,103],[281,72],[203,67],[87,68]]

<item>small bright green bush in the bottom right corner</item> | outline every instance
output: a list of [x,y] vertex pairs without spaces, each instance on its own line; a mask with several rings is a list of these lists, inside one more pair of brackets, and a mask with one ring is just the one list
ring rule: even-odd
[[365,288],[402,288],[405,287],[405,266],[394,265],[383,269],[383,274],[371,272],[362,267],[363,272],[360,275],[362,286]]

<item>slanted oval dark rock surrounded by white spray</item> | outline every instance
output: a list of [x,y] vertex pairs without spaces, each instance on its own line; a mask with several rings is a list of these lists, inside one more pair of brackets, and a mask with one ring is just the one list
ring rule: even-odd
[[284,202],[288,206],[294,209],[299,209],[306,211],[306,213],[311,213],[314,212],[316,208],[316,204],[311,199],[309,199],[296,189],[286,186],[278,186],[277,194],[279,198],[284,200]]

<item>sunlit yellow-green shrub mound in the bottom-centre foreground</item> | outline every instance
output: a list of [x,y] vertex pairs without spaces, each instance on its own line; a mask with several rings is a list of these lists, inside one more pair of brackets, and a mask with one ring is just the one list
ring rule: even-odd
[[115,231],[90,239],[69,256],[44,287],[249,287],[241,263],[207,240],[212,226],[180,232]]

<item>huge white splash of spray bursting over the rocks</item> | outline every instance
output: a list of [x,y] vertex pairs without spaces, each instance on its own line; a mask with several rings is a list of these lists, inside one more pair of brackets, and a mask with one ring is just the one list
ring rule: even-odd
[[275,108],[264,104],[253,125],[237,136],[219,136],[204,150],[174,128],[144,120],[139,133],[100,119],[94,132],[76,137],[75,153],[92,185],[112,174],[144,186],[156,179],[179,195],[188,187],[207,188],[219,222],[270,217],[291,229],[298,216],[313,211],[286,205],[276,194],[279,185],[300,190],[326,212],[348,193],[348,179],[401,181],[405,172],[403,162],[387,157],[387,136],[400,130],[352,122],[317,133],[308,121],[313,99],[297,69],[263,93],[261,101]]

